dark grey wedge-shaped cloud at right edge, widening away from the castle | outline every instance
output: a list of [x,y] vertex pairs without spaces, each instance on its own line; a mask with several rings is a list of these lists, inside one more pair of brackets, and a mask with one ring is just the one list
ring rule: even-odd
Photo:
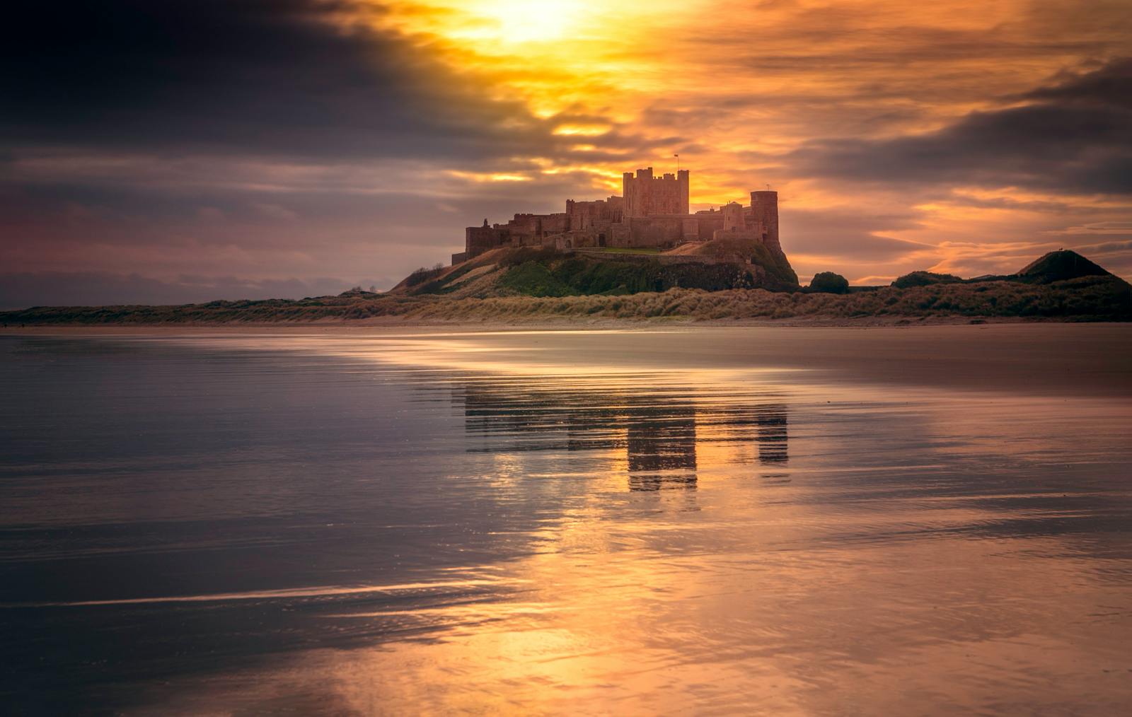
[[1112,62],[940,131],[811,142],[786,159],[809,176],[878,183],[1132,193],[1132,61]]

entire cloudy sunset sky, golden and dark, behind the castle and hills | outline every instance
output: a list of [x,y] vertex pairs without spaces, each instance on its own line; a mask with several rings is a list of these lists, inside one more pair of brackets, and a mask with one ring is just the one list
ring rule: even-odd
[[677,153],[804,278],[1132,277],[1127,0],[48,0],[0,58],[8,308],[385,288]]

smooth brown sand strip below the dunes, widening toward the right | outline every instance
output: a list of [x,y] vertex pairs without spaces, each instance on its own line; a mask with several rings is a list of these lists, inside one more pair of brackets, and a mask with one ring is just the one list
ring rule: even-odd
[[[1132,323],[942,323],[783,326],[730,322],[598,327],[548,325],[108,326],[9,328],[0,336],[208,338],[237,336],[444,340],[492,336],[500,362],[539,346],[564,365],[735,369],[758,365],[829,371],[849,380],[1046,395],[1132,396]],[[632,340],[624,340],[624,336]],[[535,337],[535,338],[531,338]],[[608,338],[608,340],[607,340]],[[533,344],[531,342],[534,342]],[[508,356],[506,352],[512,352]]]

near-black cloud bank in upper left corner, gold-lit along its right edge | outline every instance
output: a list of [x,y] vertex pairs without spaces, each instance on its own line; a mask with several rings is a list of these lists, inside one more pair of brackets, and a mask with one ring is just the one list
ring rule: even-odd
[[0,136],[25,148],[353,158],[506,156],[557,141],[546,121],[486,100],[474,77],[409,40],[344,26],[358,7],[17,3],[0,31]]

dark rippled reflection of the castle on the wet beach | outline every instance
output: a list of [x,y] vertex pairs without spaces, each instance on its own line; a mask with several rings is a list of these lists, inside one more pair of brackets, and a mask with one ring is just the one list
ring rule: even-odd
[[464,413],[469,451],[625,450],[631,491],[695,489],[697,447],[707,443],[747,449],[738,451],[743,463],[788,463],[788,409],[780,399],[710,397],[636,379],[588,378],[593,388],[529,378],[470,381],[457,385],[452,399]]

